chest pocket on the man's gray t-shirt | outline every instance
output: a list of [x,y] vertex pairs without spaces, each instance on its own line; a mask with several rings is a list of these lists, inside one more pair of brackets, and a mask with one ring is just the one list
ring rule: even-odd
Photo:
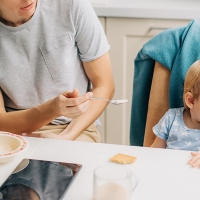
[[68,77],[72,62],[72,36],[46,43],[40,47],[45,63],[53,79]]

